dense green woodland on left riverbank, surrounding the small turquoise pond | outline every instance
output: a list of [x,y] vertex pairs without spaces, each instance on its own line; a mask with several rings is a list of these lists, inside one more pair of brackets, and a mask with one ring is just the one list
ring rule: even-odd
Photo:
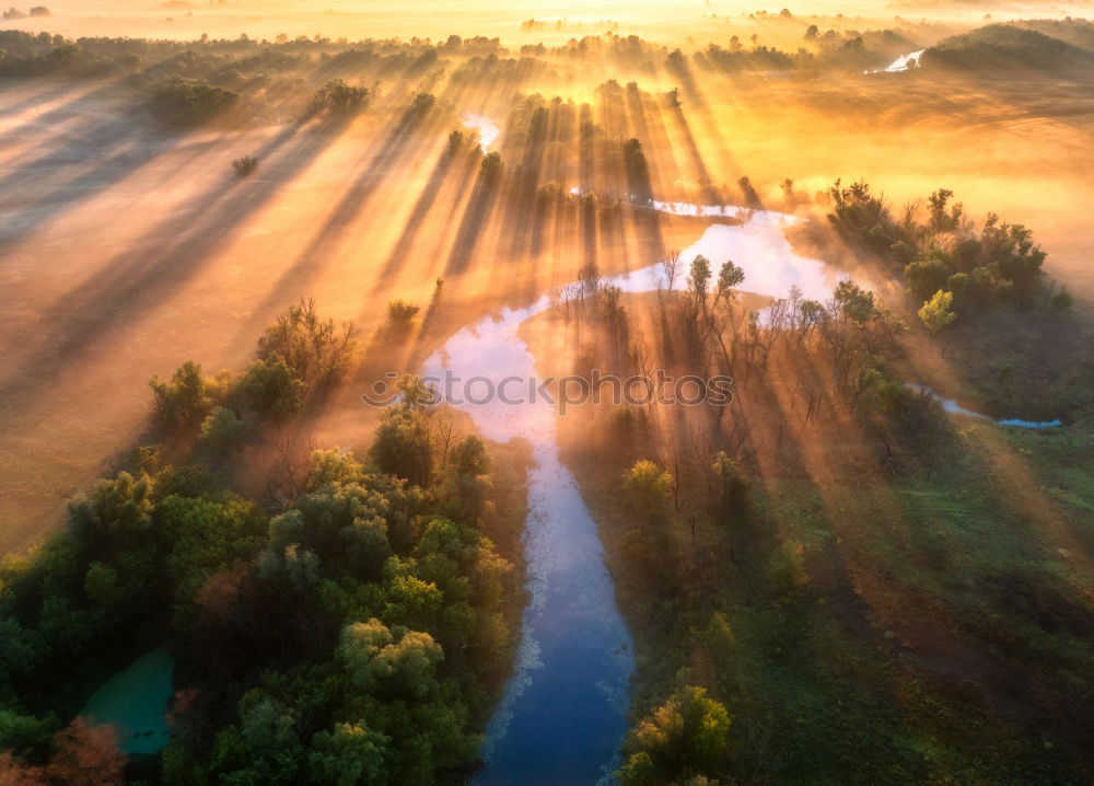
[[[130,776],[429,784],[475,768],[520,604],[485,532],[522,512],[493,506],[485,443],[457,439],[408,379],[374,464],[315,451],[272,506],[207,469],[305,406],[352,336],[302,301],[238,380],[197,363],[153,380],[163,426],[200,421],[191,462],[216,461],[175,467],[141,449],[72,504],[61,532],[5,560],[0,779],[119,782],[113,730],[68,721],[112,670],[164,641],[178,662],[172,741]],[[504,533],[510,552],[517,538]]]

